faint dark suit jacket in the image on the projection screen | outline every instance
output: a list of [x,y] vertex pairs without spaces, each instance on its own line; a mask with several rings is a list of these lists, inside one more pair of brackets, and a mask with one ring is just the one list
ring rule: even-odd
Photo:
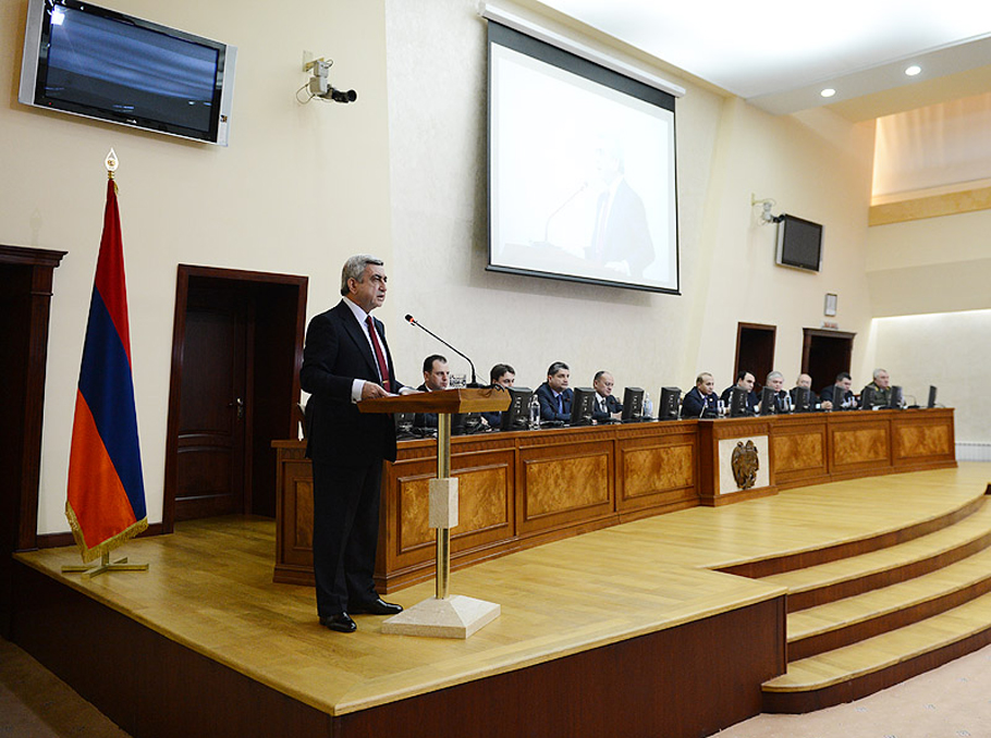
[[599,196],[589,256],[598,263],[626,261],[633,276],[643,276],[644,269],[656,258],[644,200],[626,184],[626,180],[620,182],[605,219],[604,243],[600,245],[596,244],[596,235],[599,233],[599,218],[608,198],[609,193]]

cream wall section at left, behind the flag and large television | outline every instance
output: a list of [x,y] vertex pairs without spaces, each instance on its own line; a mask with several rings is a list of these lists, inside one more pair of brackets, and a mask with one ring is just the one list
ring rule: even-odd
[[[337,300],[355,250],[390,254],[383,5],[160,3],[114,9],[237,46],[231,145],[187,143],[47,113],[16,101],[27,3],[0,0],[0,243],[64,249],[56,270],[42,436],[40,532],[68,530],[69,434],[102,220],[110,147],[131,308],[148,517],[161,520],[175,269],[208,265],[310,276],[316,311]],[[335,60],[352,106],[294,98],[303,51]]]

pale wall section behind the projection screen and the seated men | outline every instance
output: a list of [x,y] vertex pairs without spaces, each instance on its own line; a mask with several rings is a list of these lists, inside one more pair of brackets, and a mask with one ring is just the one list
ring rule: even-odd
[[[779,327],[778,364],[791,380],[802,328],[821,324],[825,292],[840,294],[841,328],[868,330],[872,127],[828,111],[776,119],[687,77],[672,79],[688,89],[676,123],[681,296],[486,272],[486,24],[475,8],[472,0],[387,2],[397,313],[414,313],[481,373],[509,361],[518,383],[536,386],[562,359],[573,385],[609,368],[620,388],[654,395],[662,384],[687,390],[701,369],[720,388],[730,384],[737,321]],[[541,19],[555,30],[559,21]],[[641,63],[601,39],[583,40]],[[660,65],[650,71],[672,76]],[[757,224],[751,193],[825,224],[822,273],[774,266],[775,229]],[[865,343],[866,335],[856,344],[858,365]],[[392,346],[407,380],[418,378],[424,356],[444,353],[405,325],[392,329]],[[467,365],[457,359],[454,370]]]

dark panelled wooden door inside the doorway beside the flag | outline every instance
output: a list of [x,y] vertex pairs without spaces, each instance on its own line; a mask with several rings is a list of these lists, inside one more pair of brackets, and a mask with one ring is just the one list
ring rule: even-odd
[[183,343],[175,520],[250,512],[245,445],[247,304],[236,290],[191,286]]

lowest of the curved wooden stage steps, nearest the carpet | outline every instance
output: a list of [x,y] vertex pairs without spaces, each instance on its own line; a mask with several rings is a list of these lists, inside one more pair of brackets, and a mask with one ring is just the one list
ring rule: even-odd
[[788,664],[763,710],[803,713],[859,699],[991,642],[991,594],[919,623]]

